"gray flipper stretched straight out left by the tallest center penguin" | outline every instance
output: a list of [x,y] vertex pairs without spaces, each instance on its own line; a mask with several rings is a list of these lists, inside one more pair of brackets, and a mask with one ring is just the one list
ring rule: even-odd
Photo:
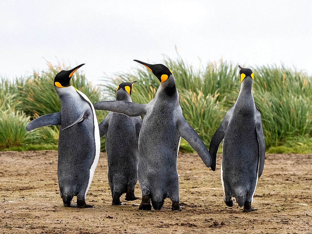
[[96,110],[109,110],[130,117],[145,115],[148,110],[148,104],[138,104],[128,101],[101,101],[95,103],[93,106]]

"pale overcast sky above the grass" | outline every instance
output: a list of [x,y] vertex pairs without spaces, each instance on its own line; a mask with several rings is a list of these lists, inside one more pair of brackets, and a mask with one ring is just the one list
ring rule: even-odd
[[95,84],[163,55],[312,74],[312,1],[1,1],[0,76],[65,61]]

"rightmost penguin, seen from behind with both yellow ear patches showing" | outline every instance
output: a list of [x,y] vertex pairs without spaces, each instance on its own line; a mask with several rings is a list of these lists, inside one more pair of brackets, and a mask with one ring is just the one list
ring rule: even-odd
[[224,202],[232,207],[232,197],[235,197],[238,205],[244,206],[244,212],[250,212],[257,210],[251,207],[251,202],[263,171],[266,145],[261,115],[252,95],[254,74],[248,68],[239,68],[241,90],[213,135],[209,152],[215,167],[217,151],[223,140],[221,182]]

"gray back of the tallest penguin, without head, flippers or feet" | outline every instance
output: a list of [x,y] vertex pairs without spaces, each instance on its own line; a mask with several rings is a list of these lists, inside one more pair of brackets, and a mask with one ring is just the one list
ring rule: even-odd
[[182,110],[178,92],[166,98],[158,95],[161,94],[156,94],[151,108],[144,116],[140,131],[138,178],[139,182],[140,179],[141,182],[144,180],[144,185],[151,183],[146,189],[163,190],[166,194],[167,188],[178,182],[177,154],[180,134],[177,129],[177,116],[180,113],[182,115]]

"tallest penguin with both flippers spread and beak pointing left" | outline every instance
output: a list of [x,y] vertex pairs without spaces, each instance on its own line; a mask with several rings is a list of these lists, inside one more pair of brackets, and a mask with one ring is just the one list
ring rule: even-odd
[[170,69],[162,64],[146,66],[160,81],[153,100],[148,104],[129,101],[102,101],[97,110],[110,110],[128,116],[144,115],[139,135],[138,179],[142,202],[140,210],[160,210],[165,198],[172,200],[172,210],[181,211],[177,156],[180,138],[185,139],[207,167],[211,156],[195,130],[182,115],[179,94]]

